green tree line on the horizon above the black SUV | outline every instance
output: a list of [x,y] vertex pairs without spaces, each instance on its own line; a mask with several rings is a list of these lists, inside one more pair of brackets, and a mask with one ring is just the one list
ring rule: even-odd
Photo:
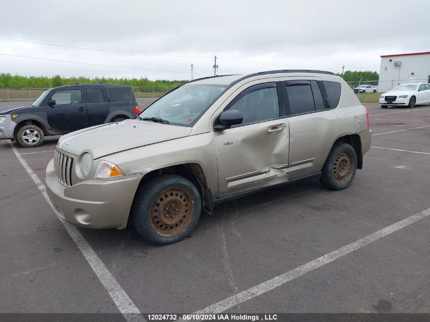
[[11,74],[0,74],[0,87],[9,88],[19,88],[19,87],[32,87],[32,88],[46,88],[46,87],[56,87],[62,85],[70,85],[72,83],[112,83],[112,84],[123,84],[123,85],[133,85],[133,86],[168,86],[169,89],[173,89],[187,80],[149,80],[146,77],[141,78],[126,78],[126,77],[61,77],[60,75],[55,75],[52,77],[47,76],[21,76],[21,75],[11,75]]

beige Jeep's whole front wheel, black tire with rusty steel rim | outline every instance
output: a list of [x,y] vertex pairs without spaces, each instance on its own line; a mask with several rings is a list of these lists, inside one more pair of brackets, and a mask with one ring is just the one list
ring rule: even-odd
[[165,174],[137,189],[130,215],[140,236],[165,245],[188,236],[201,211],[202,198],[195,185],[179,175]]

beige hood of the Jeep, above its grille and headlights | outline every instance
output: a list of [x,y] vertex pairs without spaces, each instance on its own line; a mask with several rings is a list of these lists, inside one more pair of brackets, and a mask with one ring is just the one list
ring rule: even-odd
[[149,121],[125,120],[63,135],[58,147],[74,155],[91,152],[94,159],[190,135],[192,128]]

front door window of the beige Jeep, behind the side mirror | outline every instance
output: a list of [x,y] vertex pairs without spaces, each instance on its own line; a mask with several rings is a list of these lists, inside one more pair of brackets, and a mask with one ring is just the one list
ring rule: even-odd
[[242,124],[279,118],[276,83],[258,84],[239,94],[224,110],[237,109],[243,115]]

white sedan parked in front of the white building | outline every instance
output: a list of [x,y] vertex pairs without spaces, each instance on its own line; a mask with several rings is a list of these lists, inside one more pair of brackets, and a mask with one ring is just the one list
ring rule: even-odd
[[430,84],[402,84],[384,93],[379,98],[379,105],[386,108],[390,105],[414,107],[417,104],[430,103]]

